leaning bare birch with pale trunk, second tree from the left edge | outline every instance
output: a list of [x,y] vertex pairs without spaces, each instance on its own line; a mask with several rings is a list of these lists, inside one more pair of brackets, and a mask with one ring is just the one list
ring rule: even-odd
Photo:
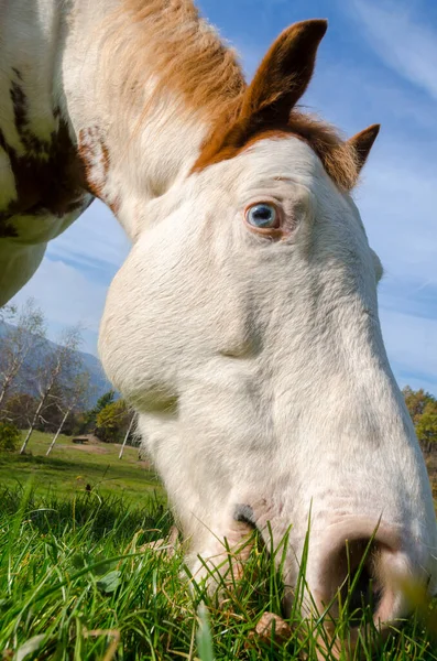
[[28,434],[21,446],[20,454],[24,454],[30,437],[40,419],[43,419],[44,407],[51,401],[52,392],[65,388],[81,368],[81,359],[77,349],[81,343],[80,326],[66,328],[61,342],[53,351],[42,356],[36,369],[35,387],[39,392],[39,404],[32,418]]

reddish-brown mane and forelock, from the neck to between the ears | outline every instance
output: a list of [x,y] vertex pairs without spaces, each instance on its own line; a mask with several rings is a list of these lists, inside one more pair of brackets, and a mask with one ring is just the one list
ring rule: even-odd
[[[247,83],[232,48],[200,18],[192,0],[122,0],[110,14],[111,62],[122,67],[121,93],[124,107],[132,106],[132,93],[153,76],[153,93],[142,108],[140,124],[152,105],[163,108],[168,90],[176,93],[190,115],[206,120],[209,130],[193,171],[237,155],[256,140],[273,134],[294,134],[309,144],[326,172],[341,189],[357,182],[359,164],[353,148],[337,129],[301,109],[294,108],[288,122],[267,127],[244,116]],[[160,106],[161,104],[161,106]]]

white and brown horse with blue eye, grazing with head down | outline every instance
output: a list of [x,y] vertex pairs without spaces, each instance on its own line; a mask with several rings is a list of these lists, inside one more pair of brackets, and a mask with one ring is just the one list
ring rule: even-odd
[[386,627],[403,581],[435,588],[436,521],[351,197],[379,127],[345,141],[297,107],[326,21],[285,30],[249,85],[190,0],[6,0],[0,25],[2,302],[103,201],[132,249],[99,351],[192,572],[289,530],[293,590],[310,513],[316,606],[370,543]]

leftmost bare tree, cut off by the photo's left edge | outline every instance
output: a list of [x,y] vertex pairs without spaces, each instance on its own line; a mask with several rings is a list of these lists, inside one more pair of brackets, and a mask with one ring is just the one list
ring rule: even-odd
[[[8,322],[8,325],[6,325]],[[20,377],[23,367],[31,362],[45,339],[44,314],[33,299],[17,308],[6,305],[0,310],[0,323],[4,325],[0,336],[0,408]]]

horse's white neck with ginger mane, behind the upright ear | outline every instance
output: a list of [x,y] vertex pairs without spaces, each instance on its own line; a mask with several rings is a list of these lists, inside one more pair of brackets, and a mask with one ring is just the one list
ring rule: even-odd
[[188,173],[242,75],[190,0],[75,0],[67,21],[64,112],[89,189],[134,238],[140,209]]

